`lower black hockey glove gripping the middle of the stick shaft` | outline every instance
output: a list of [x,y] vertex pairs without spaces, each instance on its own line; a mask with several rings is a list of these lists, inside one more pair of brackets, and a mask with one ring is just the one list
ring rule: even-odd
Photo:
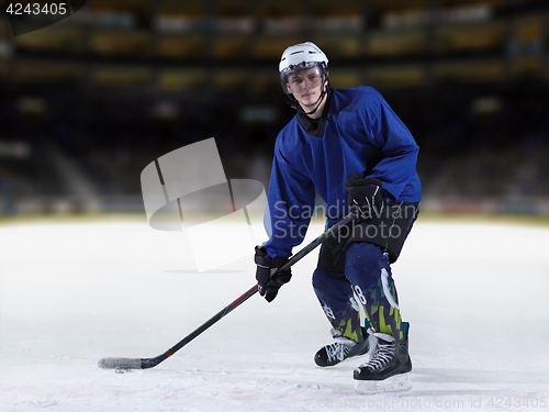
[[274,275],[277,269],[288,261],[288,258],[270,257],[265,247],[256,246],[256,279],[259,287],[259,294],[265,297],[267,302],[271,302],[277,297],[280,287],[288,283],[292,278],[292,270],[290,268]]

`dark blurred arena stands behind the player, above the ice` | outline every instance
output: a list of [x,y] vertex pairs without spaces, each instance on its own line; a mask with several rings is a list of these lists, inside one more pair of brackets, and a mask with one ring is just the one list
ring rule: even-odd
[[4,16],[0,215],[142,212],[143,168],[209,137],[267,185],[304,41],[408,126],[426,209],[548,214],[548,23],[542,0],[88,0],[19,36]]

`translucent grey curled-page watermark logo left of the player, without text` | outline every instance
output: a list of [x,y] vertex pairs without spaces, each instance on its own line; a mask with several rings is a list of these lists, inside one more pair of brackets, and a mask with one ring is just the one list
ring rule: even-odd
[[264,185],[227,179],[213,137],[159,157],[141,181],[149,225],[181,231],[199,272],[253,261],[254,247],[268,240]]

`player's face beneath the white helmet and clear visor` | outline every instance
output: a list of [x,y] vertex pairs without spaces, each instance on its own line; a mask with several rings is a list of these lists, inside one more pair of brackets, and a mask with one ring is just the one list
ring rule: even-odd
[[311,111],[318,103],[324,76],[318,67],[294,71],[288,75],[288,90],[301,104],[303,110]]

